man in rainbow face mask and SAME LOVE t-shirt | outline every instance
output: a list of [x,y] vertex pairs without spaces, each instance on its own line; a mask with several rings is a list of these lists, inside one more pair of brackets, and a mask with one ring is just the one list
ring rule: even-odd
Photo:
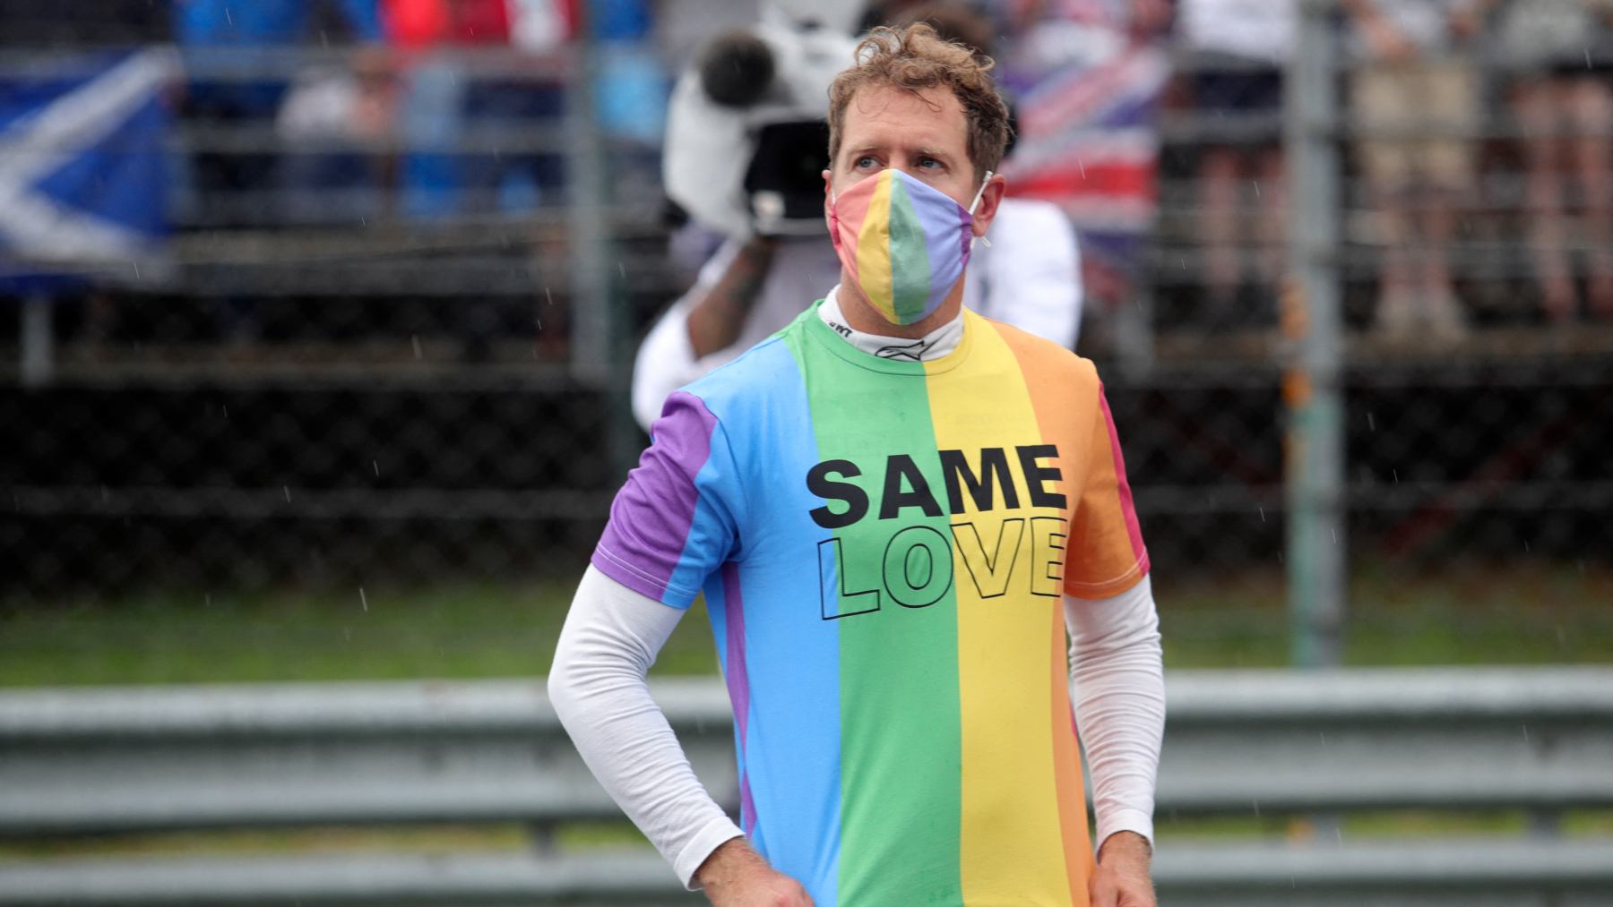
[[[840,285],[668,400],[577,588],[555,709],[713,904],[1153,904],[1158,622],[1108,406],[1090,362],[961,308],[1005,121],[927,26],[860,45]],[[737,826],[644,681],[702,586]]]

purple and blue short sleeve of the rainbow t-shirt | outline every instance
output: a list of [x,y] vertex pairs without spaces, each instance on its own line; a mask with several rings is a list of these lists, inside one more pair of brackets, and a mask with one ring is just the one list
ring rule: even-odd
[[650,438],[616,491],[594,565],[640,594],[689,607],[734,549],[740,485],[723,425],[698,396],[668,396]]

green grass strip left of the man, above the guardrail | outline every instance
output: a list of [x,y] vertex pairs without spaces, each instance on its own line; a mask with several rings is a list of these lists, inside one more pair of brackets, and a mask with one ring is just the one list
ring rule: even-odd
[[[573,590],[574,580],[0,606],[0,686],[542,675]],[[700,606],[655,670],[715,670]]]

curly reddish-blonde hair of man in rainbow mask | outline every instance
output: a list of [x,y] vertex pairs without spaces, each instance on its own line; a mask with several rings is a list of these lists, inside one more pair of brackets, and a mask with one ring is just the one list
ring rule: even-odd
[[969,161],[974,179],[995,171],[1008,145],[1008,105],[992,81],[992,58],[942,40],[926,23],[902,29],[877,27],[857,45],[857,64],[829,85],[829,163],[840,153],[845,108],[858,89],[892,87],[915,95],[924,89],[948,89],[963,105]]

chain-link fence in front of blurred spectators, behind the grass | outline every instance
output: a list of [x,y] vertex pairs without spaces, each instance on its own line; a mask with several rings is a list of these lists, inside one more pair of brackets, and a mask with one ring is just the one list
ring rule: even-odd
[[[1339,301],[1323,503],[1348,564],[1605,565],[1607,5],[1295,5],[1326,26],[1332,121],[1286,84],[1297,39],[1239,55],[1192,32],[1192,6],[1155,39],[1174,76],[1137,280],[1089,303],[1079,343],[1161,574],[1294,556],[1284,433],[1331,317],[1295,261]],[[1524,52],[1542,23],[1555,56]],[[48,34],[5,50],[6,79],[103,66],[71,42],[113,40],[105,21]],[[656,142],[611,113],[660,108],[653,50],[173,58],[160,253],[48,280],[3,261],[5,594],[576,570],[644,443],[632,343],[692,279],[668,255]],[[16,121],[0,142],[21,159]],[[1318,161],[1337,242],[1295,251],[1313,187],[1292,176]]]

